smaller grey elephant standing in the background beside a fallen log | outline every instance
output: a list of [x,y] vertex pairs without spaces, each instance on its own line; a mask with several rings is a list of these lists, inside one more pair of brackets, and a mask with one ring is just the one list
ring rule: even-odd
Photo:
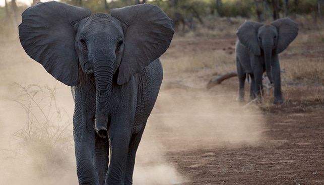
[[298,34],[298,24],[288,17],[270,25],[245,21],[237,30],[235,59],[238,74],[237,101],[244,101],[244,81],[250,77],[250,98],[263,94],[262,77],[266,72],[274,86],[274,103],[284,102],[281,92],[278,54],[285,50]]

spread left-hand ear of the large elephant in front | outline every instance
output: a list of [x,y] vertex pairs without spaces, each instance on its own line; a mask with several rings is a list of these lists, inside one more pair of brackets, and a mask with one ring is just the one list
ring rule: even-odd
[[90,14],[90,10],[59,2],[38,3],[22,14],[20,42],[48,73],[66,85],[75,86],[78,56],[74,25]]

